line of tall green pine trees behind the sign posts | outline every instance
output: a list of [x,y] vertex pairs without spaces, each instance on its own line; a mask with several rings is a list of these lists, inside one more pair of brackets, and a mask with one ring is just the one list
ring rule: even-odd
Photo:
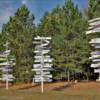
[[[38,26],[35,17],[23,5],[15,15],[3,25],[0,34],[0,51],[4,51],[3,44],[8,40],[9,49],[16,57],[13,67],[15,82],[31,82],[34,72],[33,38],[37,35],[51,36],[52,49],[50,55],[54,58],[54,80],[89,79],[93,76],[90,68],[91,48],[85,34],[88,19],[100,16],[100,1],[90,0],[87,11],[79,10],[72,0],[67,0],[60,7],[56,6],[51,12],[45,12]],[[84,14],[83,14],[84,12]]]

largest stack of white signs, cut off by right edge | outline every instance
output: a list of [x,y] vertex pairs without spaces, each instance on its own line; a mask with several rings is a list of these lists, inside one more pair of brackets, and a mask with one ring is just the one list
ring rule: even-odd
[[[86,34],[98,33],[100,32],[100,18],[89,20],[89,30]],[[100,38],[91,39],[89,42],[91,46],[95,49],[94,52],[91,52],[91,57],[93,64],[91,64],[95,73],[99,73],[99,78],[97,81],[100,81]]]

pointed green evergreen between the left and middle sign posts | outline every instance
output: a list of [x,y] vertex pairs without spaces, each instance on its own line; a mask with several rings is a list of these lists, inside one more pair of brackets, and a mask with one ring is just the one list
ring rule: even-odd
[[32,77],[32,38],[35,32],[33,21],[34,16],[23,5],[3,26],[2,33],[10,42],[10,49],[16,57],[14,67],[16,82],[29,82]]

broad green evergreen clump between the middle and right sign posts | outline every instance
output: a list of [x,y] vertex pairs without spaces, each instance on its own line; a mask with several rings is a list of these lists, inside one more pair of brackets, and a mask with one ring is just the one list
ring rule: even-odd
[[[61,8],[57,6],[51,13],[45,13],[38,32],[52,37],[51,55],[54,58],[55,69],[70,72],[84,71],[89,56],[86,26],[87,22],[72,0],[67,0]],[[57,72],[54,74],[58,75],[59,71],[58,74]]]

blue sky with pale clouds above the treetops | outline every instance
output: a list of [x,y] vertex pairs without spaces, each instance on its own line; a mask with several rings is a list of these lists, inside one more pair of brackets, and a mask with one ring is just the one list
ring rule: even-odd
[[[16,10],[25,4],[35,16],[35,24],[40,22],[45,11],[51,11],[56,5],[64,5],[66,0],[0,0],[0,30],[2,25],[14,16]],[[88,0],[73,0],[80,9],[85,9]]]

